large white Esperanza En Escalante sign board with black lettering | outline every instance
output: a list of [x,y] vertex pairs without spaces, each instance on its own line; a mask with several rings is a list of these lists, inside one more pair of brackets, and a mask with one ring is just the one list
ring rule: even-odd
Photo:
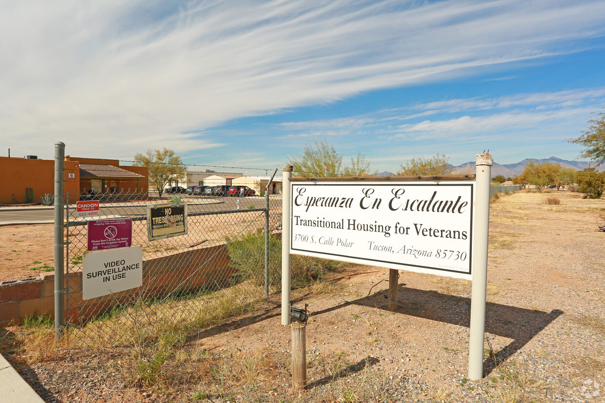
[[291,253],[472,280],[474,181],[290,183]]

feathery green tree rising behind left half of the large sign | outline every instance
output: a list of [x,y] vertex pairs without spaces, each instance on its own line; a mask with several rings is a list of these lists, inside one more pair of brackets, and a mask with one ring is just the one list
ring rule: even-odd
[[295,176],[310,176],[315,178],[333,176],[357,176],[369,173],[370,162],[361,152],[356,158],[351,158],[351,165],[342,164],[342,154],[334,146],[322,140],[313,140],[314,146],[306,145],[302,154],[290,156],[288,163],[293,166]]

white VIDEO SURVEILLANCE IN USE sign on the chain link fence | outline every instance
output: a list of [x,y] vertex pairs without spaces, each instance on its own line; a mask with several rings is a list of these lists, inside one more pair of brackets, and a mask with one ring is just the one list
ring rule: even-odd
[[84,255],[82,299],[101,297],[143,285],[140,247],[111,249]]

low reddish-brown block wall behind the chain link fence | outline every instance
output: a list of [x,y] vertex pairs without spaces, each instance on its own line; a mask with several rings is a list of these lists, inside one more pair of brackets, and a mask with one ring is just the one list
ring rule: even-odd
[[[70,273],[67,320],[75,323],[102,314],[132,295],[162,297],[174,289],[227,286],[234,274],[224,245],[200,248],[143,262],[143,286],[105,297],[82,300],[82,272]],[[186,281],[183,281],[187,279]],[[182,283],[182,284],[181,284]],[[138,294],[137,294],[138,293]],[[0,326],[21,324],[25,317],[49,314],[54,317],[54,273],[0,283]]]

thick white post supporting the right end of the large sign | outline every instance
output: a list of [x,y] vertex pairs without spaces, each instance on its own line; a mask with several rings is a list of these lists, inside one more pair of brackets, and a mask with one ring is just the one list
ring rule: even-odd
[[491,181],[491,166],[493,163],[494,159],[489,153],[477,154],[471,337],[468,352],[469,379],[483,378],[485,295],[488,281],[489,182]]

